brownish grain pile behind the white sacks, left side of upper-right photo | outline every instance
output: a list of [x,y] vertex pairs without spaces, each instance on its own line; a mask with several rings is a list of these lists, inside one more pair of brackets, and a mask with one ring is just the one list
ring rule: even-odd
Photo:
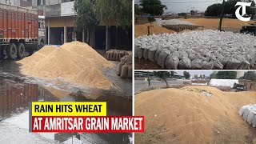
[[175,31],[173,30],[167,30],[166,28],[162,27],[162,26],[158,26],[154,23],[150,24],[150,23],[146,23],[144,25],[135,25],[134,26],[134,36],[135,38],[137,38],[138,36],[143,36],[146,35],[148,33],[148,28],[147,26],[154,26],[150,28],[150,34],[173,34],[175,33]]

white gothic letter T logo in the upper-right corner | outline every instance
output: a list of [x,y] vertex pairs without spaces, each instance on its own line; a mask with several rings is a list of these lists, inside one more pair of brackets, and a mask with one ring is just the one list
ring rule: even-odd
[[[237,2],[237,4],[235,6],[239,6],[237,10],[235,10],[235,16],[243,22],[249,22],[250,21],[250,17],[249,18],[244,18],[242,16],[244,16],[246,14],[246,6],[250,6],[251,2]],[[242,8],[242,15],[240,14],[240,10]]]

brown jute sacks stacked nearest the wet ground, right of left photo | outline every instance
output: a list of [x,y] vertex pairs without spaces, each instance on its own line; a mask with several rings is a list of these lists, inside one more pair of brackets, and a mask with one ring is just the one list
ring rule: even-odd
[[132,54],[126,55],[123,58],[121,58],[121,62],[118,66],[118,76],[120,78],[132,78],[133,73],[133,66],[132,66]]

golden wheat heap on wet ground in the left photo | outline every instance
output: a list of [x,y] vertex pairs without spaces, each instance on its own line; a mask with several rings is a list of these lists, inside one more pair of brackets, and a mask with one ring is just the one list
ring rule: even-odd
[[102,74],[111,63],[86,43],[70,42],[45,46],[32,56],[18,61],[22,74],[39,78],[63,78],[84,86],[108,89],[112,82]]

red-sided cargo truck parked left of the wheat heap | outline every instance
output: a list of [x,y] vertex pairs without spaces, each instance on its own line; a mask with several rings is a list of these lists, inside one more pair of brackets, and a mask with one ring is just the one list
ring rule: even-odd
[[0,58],[24,58],[45,42],[44,17],[37,10],[0,3]]

